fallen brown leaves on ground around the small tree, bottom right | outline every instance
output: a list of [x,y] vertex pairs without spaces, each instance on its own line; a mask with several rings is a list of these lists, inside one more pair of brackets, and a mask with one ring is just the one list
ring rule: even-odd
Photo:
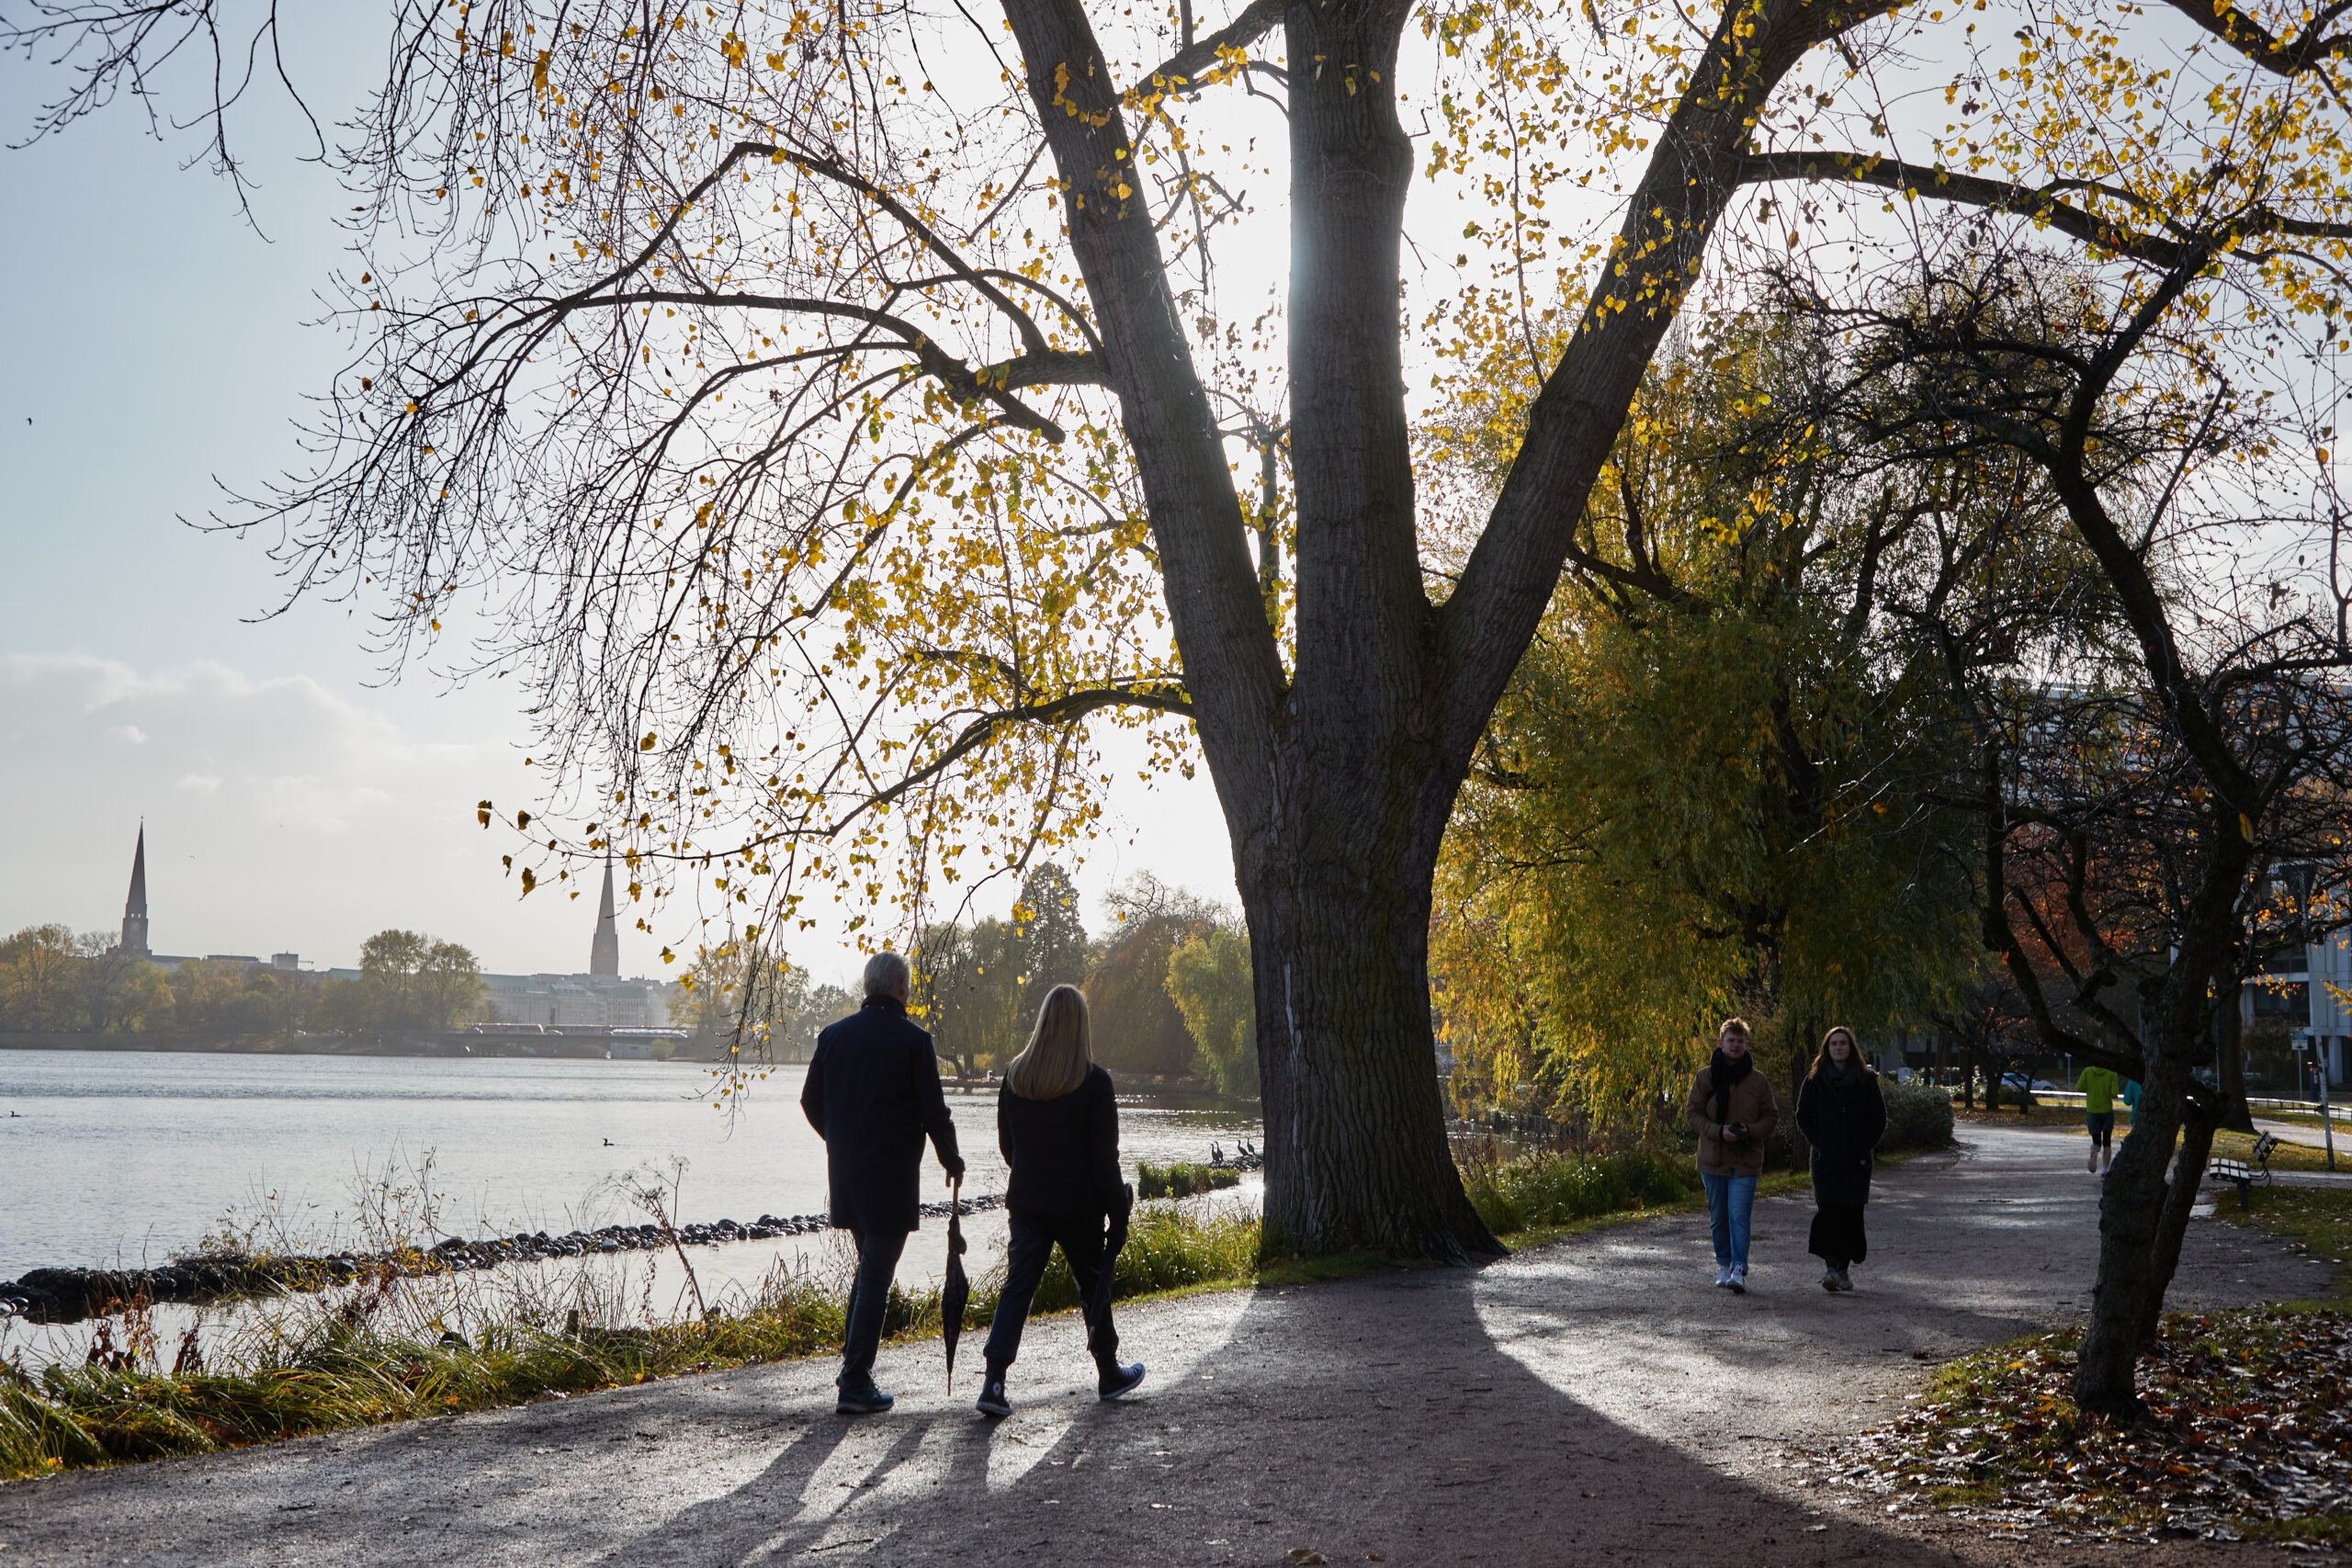
[[1839,1481],[1983,1523],[2352,1542],[2352,1314],[2180,1312],[2140,1361],[2150,1418],[2074,1410],[2079,1333],[1955,1361]]

